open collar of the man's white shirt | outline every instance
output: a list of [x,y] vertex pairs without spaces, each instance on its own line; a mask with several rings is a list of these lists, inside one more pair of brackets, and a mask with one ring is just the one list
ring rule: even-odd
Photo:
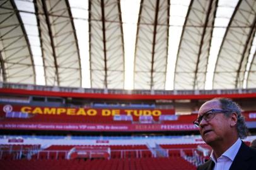
[[[236,154],[238,152],[238,150],[240,149],[240,146],[241,146],[241,139],[238,138],[238,140],[236,140],[235,144],[231,145],[231,147],[226,150],[222,155],[222,156],[225,156],[225,157],[228,157],[231,161],[234,161],[235,157],[236,157]],[[216,160],[216,157],[214,156],[213,154],[213,150],[211,152],[211,160],[214,161],[214,163],[216,164],[217,160]]]

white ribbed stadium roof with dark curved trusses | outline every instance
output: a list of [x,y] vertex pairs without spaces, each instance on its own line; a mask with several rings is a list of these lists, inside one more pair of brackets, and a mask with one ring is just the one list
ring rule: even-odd
[[255,0],[1,0],[0,81],[256,88]]

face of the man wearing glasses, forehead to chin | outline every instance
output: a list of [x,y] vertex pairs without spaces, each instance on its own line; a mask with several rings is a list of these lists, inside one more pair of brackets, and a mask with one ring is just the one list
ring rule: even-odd
[[[218,100],[207,101],[199,109],[198,116],[202,116],[212,109],[222,110],[221,103]],[[226,117],[224,113],[216,113],[209,121],[202,119],[199,131],[206,144],[211,145],[212,142],[222,141],[229,136],[231,131],[230,118]]]

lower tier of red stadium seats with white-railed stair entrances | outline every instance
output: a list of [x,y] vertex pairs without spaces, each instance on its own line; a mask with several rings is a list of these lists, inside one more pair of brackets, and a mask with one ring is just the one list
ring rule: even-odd
[[0,145],[0,169],[189,170],[209,158],[205,145]]

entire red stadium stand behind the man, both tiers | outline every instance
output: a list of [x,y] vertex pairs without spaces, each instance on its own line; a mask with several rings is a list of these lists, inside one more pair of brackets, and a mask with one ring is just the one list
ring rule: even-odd
[[[52,98],[20,89],[17,100],[17,94],[0,92],[5,98],[0,101],[1,169],[192,170],[211,153],[192,124],[205,96],[190,99],[189,94],[166,107],[165,99],[154,98],[91,105],[105,100],[100,93],[78,104],[77,94],[67,99],[66,92],[55,91]],[[244,140],[249,145],[256,138],[256,108],[247,97],[238,102],[251,133]]]

